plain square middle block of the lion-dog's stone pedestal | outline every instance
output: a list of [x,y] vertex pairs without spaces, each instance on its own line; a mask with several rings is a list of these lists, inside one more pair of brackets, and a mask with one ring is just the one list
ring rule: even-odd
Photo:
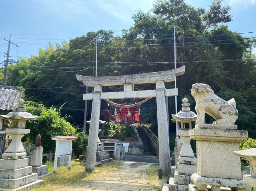
[[197,173],[202,177],[242,179],[238,142],[196,141]]

